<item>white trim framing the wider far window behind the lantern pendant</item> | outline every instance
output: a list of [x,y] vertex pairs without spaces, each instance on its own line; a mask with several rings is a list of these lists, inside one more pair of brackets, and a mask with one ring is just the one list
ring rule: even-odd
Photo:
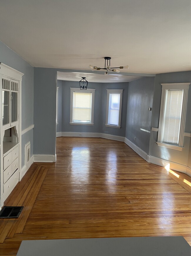
[[[86,89],[81,90],[78,88],[70,87],[70,124],[71,125],[94,125],[93,123],[93,116],[94,116],[94,97],[95,97],[95,90],[96,89]],[[92,100],[91,100],[91,123],[75,123],[73,122],[73,92],[85,92],[85,93],[92,93]]]

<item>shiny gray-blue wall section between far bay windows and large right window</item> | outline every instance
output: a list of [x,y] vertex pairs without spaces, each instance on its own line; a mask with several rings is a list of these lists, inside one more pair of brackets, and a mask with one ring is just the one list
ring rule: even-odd
[[[129,82],[125,137],[149,153],[154,77],[143,77]],[[143,131],[143,130],[146,131]],[[136,140],[135,140],[136,137]]]

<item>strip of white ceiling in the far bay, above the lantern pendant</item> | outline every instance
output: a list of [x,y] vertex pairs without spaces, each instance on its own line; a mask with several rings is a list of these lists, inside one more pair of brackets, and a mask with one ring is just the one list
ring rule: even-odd
[[88,82],[93,83],[119,83],[119,82],[130,82],[136,79],[140,79],[141,76],[123,76],[120,74],[103,74],[95,73],[80,73],[80,72],[57,72],[57,79],[64,81],[80,81],[82,77],[86,77]]

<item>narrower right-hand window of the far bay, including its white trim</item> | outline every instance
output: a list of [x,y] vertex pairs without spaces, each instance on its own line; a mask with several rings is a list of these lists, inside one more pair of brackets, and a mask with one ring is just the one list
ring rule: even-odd
[[123,89],[107,90],[107,107],[106,107],[105,126],[120,128],[122,94],[123,94]]

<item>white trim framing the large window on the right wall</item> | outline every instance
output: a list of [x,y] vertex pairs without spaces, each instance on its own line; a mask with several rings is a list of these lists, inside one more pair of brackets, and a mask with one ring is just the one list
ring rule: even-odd
[[[185,120],[186,120],[186,107],[188,100],[188,89],[190,83],[171,83],[171,84],[161,84],[162,85],[162,96],[160,103],[160,118],[159,118],[159,128],[158,128],[158,146],[180,150],[182,151],[183,141],[184,141],[184,130],[185,130]],[[184,90],[183,92],[183,100],[182,100],[182,112],[181,112],[181,120],[180,120],[180,133],[179,133],[179,142],[178,145],[172,145],[162,142],[163,130],[164,130],[164,116],[165,116],[165,100],[167,90]]]

